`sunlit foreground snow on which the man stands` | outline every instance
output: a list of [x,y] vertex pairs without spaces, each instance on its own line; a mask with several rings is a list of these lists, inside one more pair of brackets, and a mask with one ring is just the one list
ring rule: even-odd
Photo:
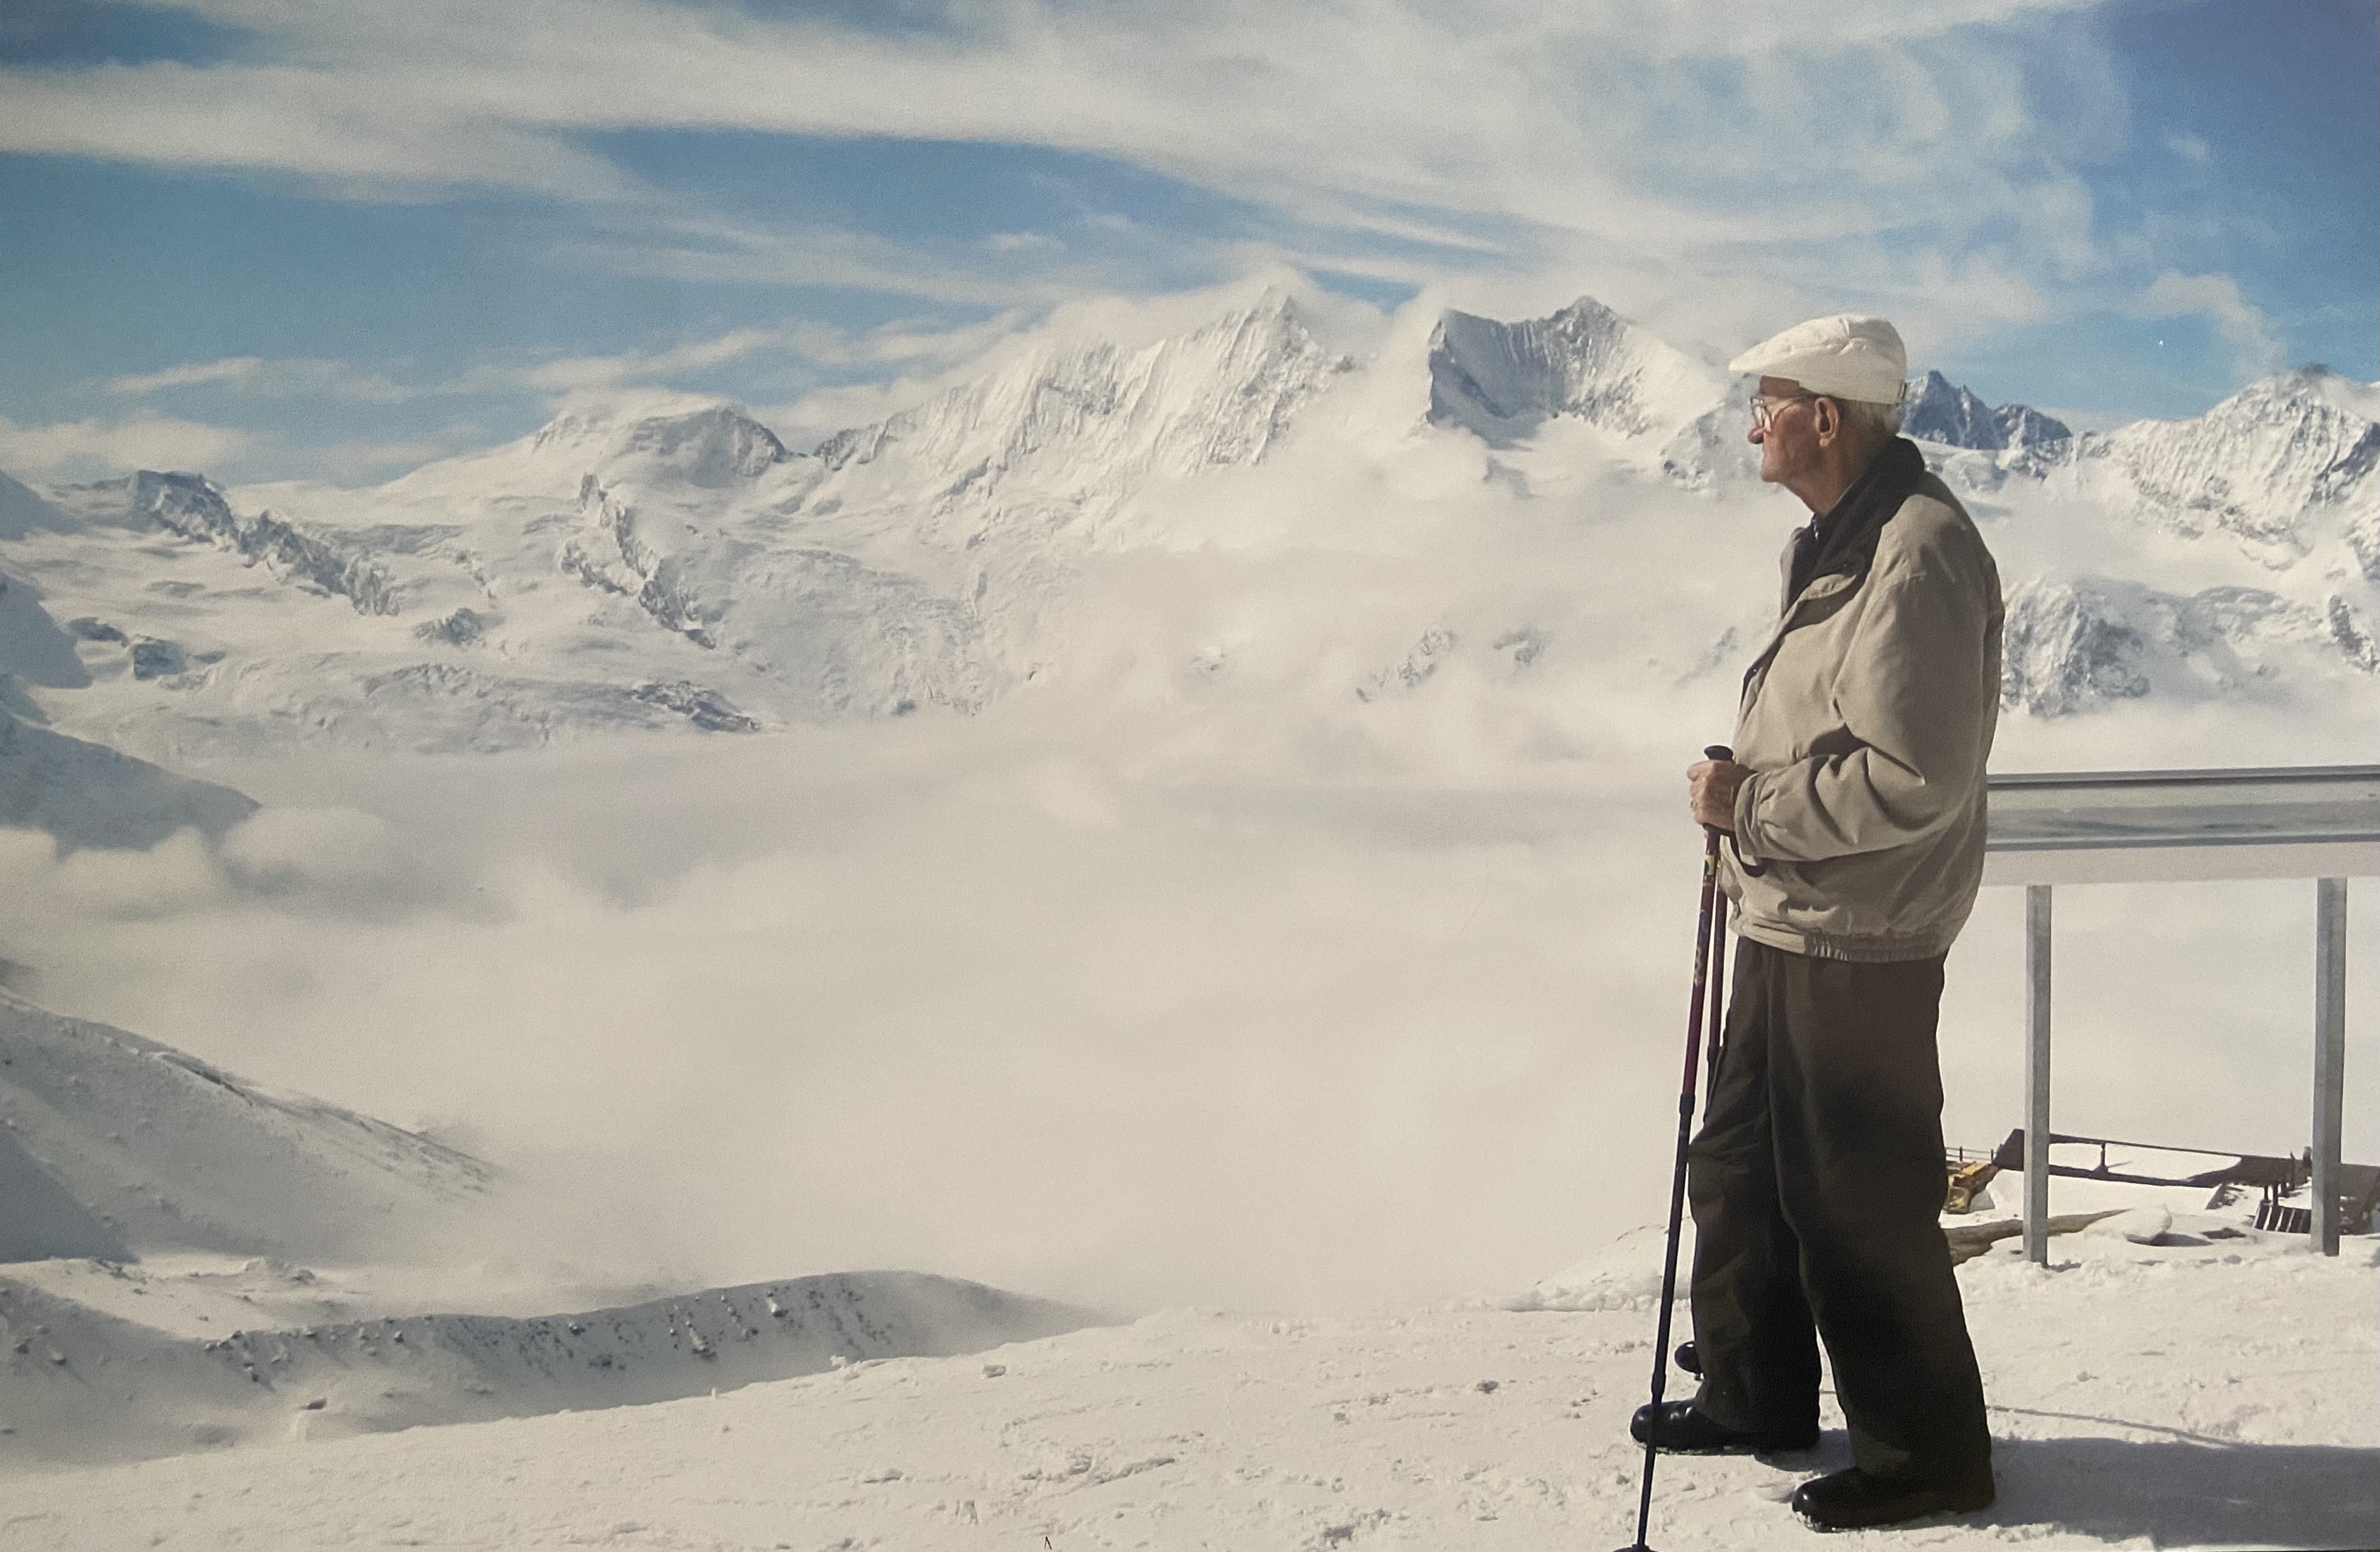
[[[2054,1240],[1959,1281],[1999,1502],[1825,1545],[2370,1545],[2380,1266],[2297,1243]],[[1171,1309],[981,1357],[657,1407],[0,1481],[10,1547],[1573,1547],[1635,1528],[1645,1307]],[[293,1423],[307,1414],[290,1409]],[[1818,1545],[1847,1459],[1668,1459],[1652,1542]]]

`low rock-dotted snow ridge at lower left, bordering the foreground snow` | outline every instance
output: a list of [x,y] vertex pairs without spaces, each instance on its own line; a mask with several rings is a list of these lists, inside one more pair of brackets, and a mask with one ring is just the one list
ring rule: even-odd
[[[286,1264],[257,1271],[312,1278]],[[171,1278],[136,1266],[93,1273],[159,1307],[176,1295]],[[581,1314],[402,1314],[195,1338],[0,1278],[0,1333],[12,1343],[0,1350],[0,1462],[143,1459],[633,1407],[1097,1321],[983,1283],[852,1271]]]

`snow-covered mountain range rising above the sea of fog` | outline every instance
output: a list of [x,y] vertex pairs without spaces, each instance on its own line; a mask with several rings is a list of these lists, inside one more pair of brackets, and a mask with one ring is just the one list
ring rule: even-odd
[[[1342,393],[1383,374],[1395,393]],[[1654,507],[1754,478],[1742,386],[1590,298],[1523,321],[1447,312],[1404,367],[1328,345],[1266,293],[1145,345],[1023,352],[807,452],[716,405],[569,414],[369,490],[7,481],[0,667],[17,719],[167,764],[969,714],[1073,650],[1059,621],[1090,557],[1207,543],[1154,493],[1266,467],[1316,414],[1397,395],[1414,419],[1395,436],[1478,438],[1490,469],[1542,474],[1559,445]],[[1906,431],[2009,543],[2011,707],[2380,671],[2380,388],[2309,367],[2187,421],[2078,436],[1928,371]],[[1295,493],[1254,500],[1295,531]],[[2028,569],[2025,536],[2075,521],[2106,531],[2102,562]],[[2142,547],[2156,533],[2206,564],[2168,574]]]

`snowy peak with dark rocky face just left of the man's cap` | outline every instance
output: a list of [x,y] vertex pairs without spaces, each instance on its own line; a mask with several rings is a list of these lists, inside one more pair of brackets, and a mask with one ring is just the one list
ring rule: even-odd
[[1435,426],[1464,426],[1507,448],[1557,414],[1626,438],[1673,436],[1728,378],[1595,298],[1518,324],[1447,312],[1430,336]]

